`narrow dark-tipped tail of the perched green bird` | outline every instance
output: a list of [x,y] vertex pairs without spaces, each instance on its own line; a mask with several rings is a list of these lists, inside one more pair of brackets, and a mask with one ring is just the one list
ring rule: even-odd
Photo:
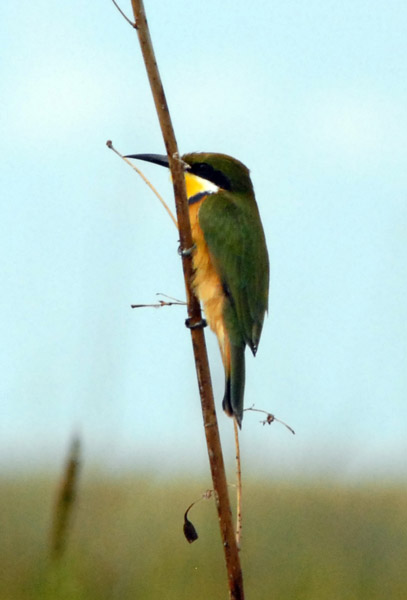
[[245,384],[245,346],[230,344],[230,368],[225,365],[226,383],[222,408],[229,417],[234,417],[242,427],[243,397]]

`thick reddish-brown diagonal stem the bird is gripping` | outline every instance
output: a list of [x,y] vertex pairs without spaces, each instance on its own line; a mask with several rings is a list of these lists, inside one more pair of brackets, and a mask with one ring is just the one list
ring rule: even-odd
[[[154,50],[147,25],[144,5],[142,0],[131,0],[134,18],[141,51],[146,66],[151,91],[160,122],[165,148],[167,151],[172,181],[174,186],[175,205],[180,233],[181,249],[192,247],[192,233],[189,222],[188,203],[185,191],[184,172],[178,160],[178,147],[171,123],[167,100],[157,67]],[[187,295],[188,316],[192,323],[199,323],[202,319],[199,301],[191,288],[193,275],[192,257],[190,254],[182,255],[185,288]],[[205,337],[202,328],[191,329],[192,346],[195,357],[196,373],[198,378],[199,393],[201,397],[202,415],[205,428],[206,443],[212,473],[215,502],[218,511],[222,544],[225,554],[228,575],[229,598],[231,600],[244,600],[243,576],[240,566],[239,552],[236,544],[235,532],[230,509],[229,493],[227,488],[225,466],[220,443],[219,429],[216,418],[215,403],[213,399],[208,356],[206,352]]]

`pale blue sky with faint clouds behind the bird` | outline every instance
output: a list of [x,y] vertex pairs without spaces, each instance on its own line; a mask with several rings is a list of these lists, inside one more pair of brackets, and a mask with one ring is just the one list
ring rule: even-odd
[[[245,415],[246,468],[405,477],[407,6],[247,7],[146,1],[181,152],[245,162],[266,232],[246,405],[297,434]],[[137,36],[107,1],[23,0],[0,39],[0,468],[58,468],[78,430],[88,464],[205,472],[185,311],[130,309],[184,295],[172,223],[105,146],[163,151]]]

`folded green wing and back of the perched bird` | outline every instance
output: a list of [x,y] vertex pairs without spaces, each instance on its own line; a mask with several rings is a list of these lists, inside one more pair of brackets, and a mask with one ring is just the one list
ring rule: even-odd
[[252,194],[211,194],[199,224],[229,302],[225,318],[231,342],[256,353],[268,305],[269,260]]

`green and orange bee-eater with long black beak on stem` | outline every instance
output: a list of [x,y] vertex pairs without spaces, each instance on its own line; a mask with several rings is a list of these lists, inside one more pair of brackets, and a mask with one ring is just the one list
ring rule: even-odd
[[[169,167],[161,154],[130,154]],[[222,407],[242,426],[245,348],[256,355],[268,310],[269,257],[249,169],[227,154],[181,157],[192,239],[193,290],[216,334],[225,371]]]

